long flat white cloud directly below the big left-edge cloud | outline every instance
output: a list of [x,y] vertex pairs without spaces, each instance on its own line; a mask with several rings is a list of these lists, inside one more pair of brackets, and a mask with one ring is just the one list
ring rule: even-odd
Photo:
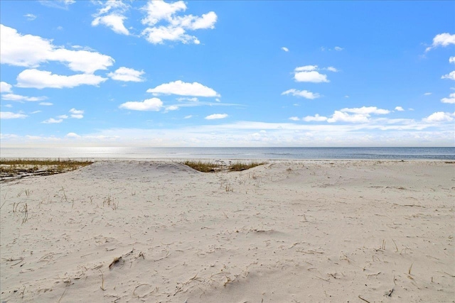
[[105,82],[103,78],[91,74],[80,75],[53,75],[51,72],[44,70],[24,70],[17,76],[17,87],[33,87],[43,89],[45,87],[61,89],[64,87],[77,87],[79,85],[95,85]]

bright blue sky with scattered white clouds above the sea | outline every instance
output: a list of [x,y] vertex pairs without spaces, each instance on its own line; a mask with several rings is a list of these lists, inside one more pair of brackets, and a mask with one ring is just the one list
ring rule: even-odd
[[455,1],[0,1],[1,147],[455,146]]

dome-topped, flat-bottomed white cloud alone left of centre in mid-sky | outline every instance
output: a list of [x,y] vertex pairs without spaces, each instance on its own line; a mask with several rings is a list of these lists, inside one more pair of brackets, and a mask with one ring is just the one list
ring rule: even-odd
[[220,94],[210,87],[205,87],[198,82],[187,83],[181,80],[161,84],[154,89],[147,89],[147,92],[153,94],[178,94],[181,96],[220,97]]

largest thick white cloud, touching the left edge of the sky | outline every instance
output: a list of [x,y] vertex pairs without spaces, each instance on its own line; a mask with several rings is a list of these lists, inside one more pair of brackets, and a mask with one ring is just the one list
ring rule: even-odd
[[92,74],[114,64],[108,55],[87,50],[67,50],[52,40],[37,35],[21,35],[14,28],[0,25],[0,61],[2,64],[38,67],[48,61],[63,62],[70,70]]

